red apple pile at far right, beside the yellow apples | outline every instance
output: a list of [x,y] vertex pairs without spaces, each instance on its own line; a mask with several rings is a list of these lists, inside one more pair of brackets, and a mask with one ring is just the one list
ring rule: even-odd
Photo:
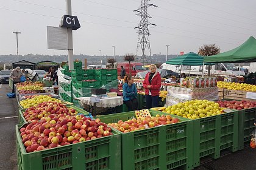
[[236,110],[242,110],[242,109],[249,109],[252,107],[256,107],[255,101],[247,101],[247,100],[232,100],[232,101],[217,101],[221,107],[227,107],[229,109],[236,109]]

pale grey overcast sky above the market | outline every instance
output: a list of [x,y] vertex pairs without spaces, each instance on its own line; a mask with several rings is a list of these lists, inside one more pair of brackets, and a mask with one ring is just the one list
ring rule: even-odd
[[[59,26],[66,14],[65,0],[0,0],[0,54],[19,53],[52,55],[47,47],[47,26]],[[238,0],[152,0],[149,7],[151,53],[177,54],[197,52],[203,44],[215,43],[221,52],[242,44],[249,36],[256,38],[256,1]],[[136,53],[141,0],[73,0],[73,15],[80,29],[73,31],[74,54],[116,55]],[[55,50],[55,55],[67,55]],[[148,54],[148,52],[146,52]],[[138,53],[141,55],[141,50]]]

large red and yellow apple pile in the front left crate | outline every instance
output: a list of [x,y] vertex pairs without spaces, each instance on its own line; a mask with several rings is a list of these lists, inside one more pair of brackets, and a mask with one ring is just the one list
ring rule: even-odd
[[84,115],[59,115],[57,121],[34,120],[25,124],[20,129],[20,135],[26,151],[34,152],[113,134],[111,127],[99,118],[91,120]]

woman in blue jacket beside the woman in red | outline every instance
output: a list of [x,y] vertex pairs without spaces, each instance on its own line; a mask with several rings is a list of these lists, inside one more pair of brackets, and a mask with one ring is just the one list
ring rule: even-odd
[[133,84],[133,77],[131,76],[124,77],[123,97],[129,110],[138,110],[137,88]]

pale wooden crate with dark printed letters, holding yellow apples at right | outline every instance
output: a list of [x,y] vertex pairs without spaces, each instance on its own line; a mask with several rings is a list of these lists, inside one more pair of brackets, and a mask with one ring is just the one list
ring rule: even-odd
[[229,90],[224,89],[224,96],[223,98],[229,98],[233,100],[250,100],[250,101],[256,101],[254,99],[246,98],[246,91],[243,90]]

